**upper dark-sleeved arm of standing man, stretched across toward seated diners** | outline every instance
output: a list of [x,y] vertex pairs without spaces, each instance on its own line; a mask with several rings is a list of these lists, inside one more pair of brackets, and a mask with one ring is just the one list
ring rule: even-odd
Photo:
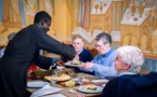
[[48,36],[42,29],[37,29],[35,41],[39,50],[58,54],[67,60],[71,60],[75,57],[74,46],[60,43],[57,40]]

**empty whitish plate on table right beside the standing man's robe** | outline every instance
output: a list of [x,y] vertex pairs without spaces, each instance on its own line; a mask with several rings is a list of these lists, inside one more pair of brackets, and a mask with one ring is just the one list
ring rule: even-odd
[[49,82],[44,82],[44,81],[29,81],[27,82],[27,87],[43,87],[44,85],[49,84]]

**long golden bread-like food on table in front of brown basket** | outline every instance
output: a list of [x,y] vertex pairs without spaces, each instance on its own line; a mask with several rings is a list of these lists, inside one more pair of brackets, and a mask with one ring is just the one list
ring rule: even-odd
[[70,80],[70,75],[68,74],[62,74],[60,77],[44,77],[45,80],[55,80],[55,81],[66,81],[66,80]]

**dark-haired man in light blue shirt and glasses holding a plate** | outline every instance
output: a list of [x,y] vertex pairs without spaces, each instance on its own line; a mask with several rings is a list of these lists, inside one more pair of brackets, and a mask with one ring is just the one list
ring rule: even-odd
[[96,77],[116,77],[118,73],[115,70],[115,58],[117,53],[110,47],[112,37],[106,32],[102,32],[95,38],[95,47],[99,54],[94,57],[91,63],[86,63],[81,65],[80,68],[83,71],[93,72]]

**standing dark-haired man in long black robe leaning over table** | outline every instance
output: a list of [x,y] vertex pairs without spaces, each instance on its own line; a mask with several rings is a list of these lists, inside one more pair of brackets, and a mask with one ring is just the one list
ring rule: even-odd
[[52,63],[63,65],[55,59],[39,55],[39,50],[60,54],[70,60],[75,56],[75,48],[60,43],[47,34],[51,25],[51,16],[38,12],[34,25],[16,33],[5,48],[0,59],[0,97],[25,97],[27,69],[32,63],[43,69],[49,69]]

